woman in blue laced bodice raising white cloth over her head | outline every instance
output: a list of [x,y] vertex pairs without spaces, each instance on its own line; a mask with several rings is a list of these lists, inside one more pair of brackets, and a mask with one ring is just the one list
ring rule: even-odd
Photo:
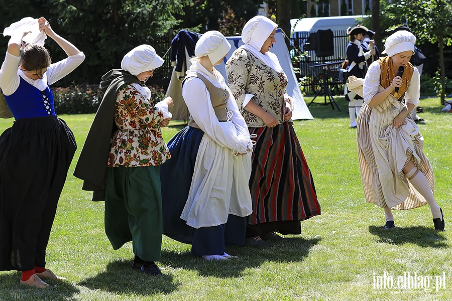
[[[4,34],[11,39],[0,88],[15,121],[0,136],[0,271],[21,271],[21,284],[47,288],[42,279],[61,278],[46,268],[46,248],[77,147],[71,129],[56,115],[49,85],[71,73],[85,55],[43,17],[24,18]],[[47,36],[65,59],[51,62]]]

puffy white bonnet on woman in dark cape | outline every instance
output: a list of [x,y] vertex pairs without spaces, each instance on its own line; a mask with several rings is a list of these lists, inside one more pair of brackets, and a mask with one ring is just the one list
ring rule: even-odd
[[140,45],[129,51],[121,61],[121,69],[137,76],[144,71],[150,71],[163,65],[165,62],[150,45]]

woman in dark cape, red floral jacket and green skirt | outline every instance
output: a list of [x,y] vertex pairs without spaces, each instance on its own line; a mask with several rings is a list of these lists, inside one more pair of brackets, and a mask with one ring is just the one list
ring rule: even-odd
[[140,45],[127,53],[121,69],[102,76],[102,102],[83,145],[74,175],[105,200],[105,233],[113,248],[133,242],[132,267],[160,275],[155,261],[162,245],[162,195],[159,165],[170,159],[162,138],[173,105],[157,104],[145,85],[163,64],[154,48]]

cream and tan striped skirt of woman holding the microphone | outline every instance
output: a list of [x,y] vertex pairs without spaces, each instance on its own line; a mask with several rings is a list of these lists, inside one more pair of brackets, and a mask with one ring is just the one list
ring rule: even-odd
[[364,104],[357,121],[358,159],[366,202],[393,210],[427,204],[403,174],[409,161],[424,174],[434,191],[433,171],[422,152],[424,139],[418,126],[411,116],[397,129],[392,125],[402,109],[398,101],[384,110]]

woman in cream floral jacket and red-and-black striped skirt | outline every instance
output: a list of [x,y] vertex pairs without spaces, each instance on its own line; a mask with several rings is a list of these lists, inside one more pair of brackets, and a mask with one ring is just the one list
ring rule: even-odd
[[[228,81],[256,145],[249,182],[253,214],[248,245],[269,245],[281,234],[300,234],[300,221],[320,214],[314,181],[292,126],[287,77],[269,52],[277,24],[263,16],[247,22],[246,45],[226,64]],[[264,241],[262,240],[264,239]]]

